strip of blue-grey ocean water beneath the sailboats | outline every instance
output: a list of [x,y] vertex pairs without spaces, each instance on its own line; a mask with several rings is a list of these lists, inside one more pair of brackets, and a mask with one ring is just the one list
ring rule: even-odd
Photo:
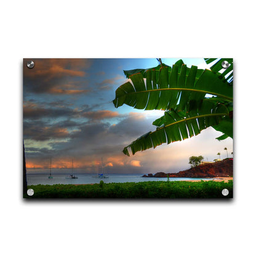
[[[167,178],[142,178],[143,174],[106,174],[108,178],[95,178],[95,174],[76,174],[76,179],[67,179],[68,174],[52,174],[53,178],[48,178],[49,174],[27,174],[28,185],[54,185],[54,184],[92,184],[100,183],[124,183],[124,182],[149,182],[167,181]],[[212,178],[169,178],[175,180],[212,180]]]

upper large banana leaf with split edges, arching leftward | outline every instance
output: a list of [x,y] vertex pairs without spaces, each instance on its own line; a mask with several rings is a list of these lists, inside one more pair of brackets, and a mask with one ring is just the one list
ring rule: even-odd
[[116,90],[113,100],[118,108],[124,104],[137,109],[188,110],[199,108],[206,94],[233,101],[233,86],[225,78],[210,70],[188,68],[182,60],[172,67],[159,65],[148,70],[125,71],[131,82]]

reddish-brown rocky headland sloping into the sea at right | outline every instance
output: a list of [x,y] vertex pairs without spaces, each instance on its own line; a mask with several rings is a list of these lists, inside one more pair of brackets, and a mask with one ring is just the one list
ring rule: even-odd
[[[189,178],[212,178],[212,177],[230,177],[233,176],[233,158],[222,161],[201,164],[188,170],[182,170],[177,173],[169,174],[169,177],[189,177]],[[143,175],[142,177],[167,177],[164,172],[156,174]]]

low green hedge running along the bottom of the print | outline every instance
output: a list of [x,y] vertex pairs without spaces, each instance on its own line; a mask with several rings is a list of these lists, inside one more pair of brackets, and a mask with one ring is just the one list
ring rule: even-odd
[[[30,185],[25,198],[233,198],[233,181],[127,182],[94,185]],[[229,190],[228,196],[222,190]]]

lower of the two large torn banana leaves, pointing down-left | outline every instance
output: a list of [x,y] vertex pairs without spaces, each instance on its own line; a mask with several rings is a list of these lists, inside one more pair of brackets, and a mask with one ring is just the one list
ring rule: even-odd
[[[156,127],[154,132],[148,132],[130,143],[123,150],[123,153],[130,156],[128,148],[135,154],[137,151],[156,148],[162,143],[172,143],[198,135],[201,130],[209,126],[221,128],[223,121],[229,118],[229,110],[223,104],[204,101],[200,110],[183,111],[169,110],[159,119],[153,122]],[[232,122],[231,122],[232,123]],[[225,126],[225,124],[224,124]],[[216,129],[215,128],[215,129]]]

